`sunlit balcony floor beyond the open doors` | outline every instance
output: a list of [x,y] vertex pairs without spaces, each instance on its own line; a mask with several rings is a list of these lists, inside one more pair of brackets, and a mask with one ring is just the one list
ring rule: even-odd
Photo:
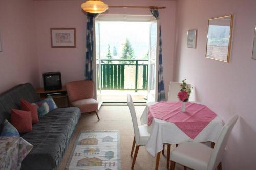
[[101,99],[103,102],[126,103],[127,94],[131,94],[133,102],[146,102],[144,99],[147,96],[147,91],[132,91],[132,90],[101,90]]

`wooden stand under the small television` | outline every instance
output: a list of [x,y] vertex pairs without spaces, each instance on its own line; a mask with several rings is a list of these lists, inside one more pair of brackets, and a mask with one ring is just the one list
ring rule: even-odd
[[52,96],[54,102],[58,107],[69,107],[69,98],[65,86],[59,90],[45,90],[43,87],[36,89],[39,99],[46,99],[49,95]]

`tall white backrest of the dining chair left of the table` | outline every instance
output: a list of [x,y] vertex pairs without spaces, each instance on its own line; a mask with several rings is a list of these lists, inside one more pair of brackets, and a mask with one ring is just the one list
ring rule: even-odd
[[134,130],[134,137],[136,141],[136,145],[139,145],[140,143],[140,132],[139,132],[139,126],[137,122],[137,116],[135,112],[135,108],[133,105],[133,99],[130,94],[127,94],[127,104],[131,113],[132,121],[133,121],[133,130]]

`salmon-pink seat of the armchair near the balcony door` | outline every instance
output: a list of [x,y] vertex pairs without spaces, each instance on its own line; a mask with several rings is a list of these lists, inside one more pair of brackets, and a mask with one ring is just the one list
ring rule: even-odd
[[93,98],[80,99],[71,102],[72,106],[79,107],[81,113],[93,112],[98,110],[98,102]]

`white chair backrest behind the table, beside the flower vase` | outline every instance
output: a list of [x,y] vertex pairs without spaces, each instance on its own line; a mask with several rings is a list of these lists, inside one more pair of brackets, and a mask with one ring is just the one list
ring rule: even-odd
[[[181,89],[180,85],[182,83],[179,82],[170,82],[169,85],[169,93],[168,93],[168,101],[169,102],[178,102],[180,101],[178,98],[178,93]],[[187,84],[189,88],[191,88],[190,84]]]

